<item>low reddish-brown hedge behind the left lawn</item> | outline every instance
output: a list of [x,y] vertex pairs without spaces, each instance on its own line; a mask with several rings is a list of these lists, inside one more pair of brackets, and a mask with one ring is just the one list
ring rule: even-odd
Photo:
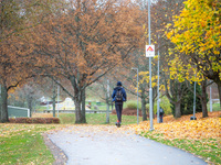
[[59,118],[10,118],[11,123],[60,123]]

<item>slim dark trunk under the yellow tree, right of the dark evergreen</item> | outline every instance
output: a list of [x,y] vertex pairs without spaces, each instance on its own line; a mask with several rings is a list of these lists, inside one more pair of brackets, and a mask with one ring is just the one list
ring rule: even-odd
[[200,98],[202,105],[202,118],[208,117],[208,109],[207,109],[207,80],[201,82],[202,95]]

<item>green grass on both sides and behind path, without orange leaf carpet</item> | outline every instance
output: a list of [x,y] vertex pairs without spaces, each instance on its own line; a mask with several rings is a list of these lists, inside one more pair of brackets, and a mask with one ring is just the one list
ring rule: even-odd
[[[53,155],[46,148],[42,133],[74,124],[73,113],[60,113],[61,124],[10,124],[0,123],[0,164],[39,164],[48,165],[54,162]],[[106,113],[87,113],[87,124],[106,124]],[[109,124],[114,125],[117,120],[116,114],[109,114]],[[141,118],[139,118],[141,121]],[[136,116],[123,116],[123,125],[136,124]],[[146,138],[186,150],[190,153],[201,155],[203,158],[212,160],[214,164],[221,164],[220,141],[208,139],[204,141],[191,140],[164,140],[162,135],[155,138],[151,132],[145,134]],[[211,152],[212,151],[212,152]]]

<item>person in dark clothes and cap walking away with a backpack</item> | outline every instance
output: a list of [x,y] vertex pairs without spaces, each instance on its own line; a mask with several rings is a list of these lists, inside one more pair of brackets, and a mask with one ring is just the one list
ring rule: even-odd
[[115,102],[115,109],[117,112],[117,122],[116,125],[122,124],[122,110],[123,110],[123,102],[127,100],[127,95],[125,89],[122,87],[122,81],[117,82],[117,87],[114,88],[112,94],[113,102]]

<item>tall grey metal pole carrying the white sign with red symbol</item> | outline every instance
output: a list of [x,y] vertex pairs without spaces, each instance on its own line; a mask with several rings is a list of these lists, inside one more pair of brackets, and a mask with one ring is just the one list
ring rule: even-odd
[[[149,45],[151,45],[151,32],[150,32],[150,0],[148,0],[148,31],[149,31]],[[152,123],[152,88],[151,88],[151,57],[149,57],[149,120],[150,131],[154,130]]]

